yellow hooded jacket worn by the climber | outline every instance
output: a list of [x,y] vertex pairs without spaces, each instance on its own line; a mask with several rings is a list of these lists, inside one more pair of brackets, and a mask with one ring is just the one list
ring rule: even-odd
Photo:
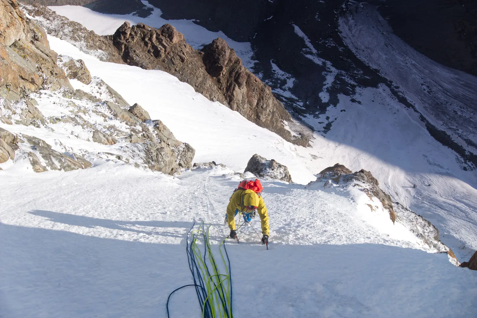
[[234,219],[235,210],[238,209],[239,211],[247,212],[245,207],[248,205],[257,207],[257,212],[259,212],[260,216],[262,234],[269,235],[270,227],[268,224],[268,211],[267,207],[265,207],[265,202],[263,202],[262,197],[250,189],[237,190],[234,192],[234,194],[232,194],[227,206],[227,220],[229,229],[236,229]]

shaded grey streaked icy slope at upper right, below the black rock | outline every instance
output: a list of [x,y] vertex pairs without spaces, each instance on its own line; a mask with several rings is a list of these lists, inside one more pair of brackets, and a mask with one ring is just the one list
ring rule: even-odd
[[[477,78],[443,66],[394,35],[370,4],[355,3],[340,18],[344,43],[464,149],[477,152]],[[392,62],[390,62],[392,61]]]

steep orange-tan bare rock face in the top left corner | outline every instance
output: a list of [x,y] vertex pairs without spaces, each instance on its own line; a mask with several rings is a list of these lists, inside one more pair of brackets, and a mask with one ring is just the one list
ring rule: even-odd
[[0,0],[0,16],[0,96],[18,101],[38,89],[71,88],[46,31],[15,0]]

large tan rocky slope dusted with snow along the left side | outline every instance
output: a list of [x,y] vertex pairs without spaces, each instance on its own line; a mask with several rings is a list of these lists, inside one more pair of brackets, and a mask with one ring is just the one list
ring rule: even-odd
[[[141,106],[135,104],[131,107],[103,80],[91,78],[82,60],[58,57],[49,49],[46,32],[25,17],[15,1],[0,0],[0,10],[0,51],[8,53],[0,54],[1,122],[33,125],[50,132],[59,129],[59,136],[83,139],[82,146],[87,147],[87,142],[96,142],[111,147],[112,151],[97,152],[97,145],[88,151],[83,147],[76,148],[74,143],[70,146],[63,144],[68,144],[67,140],[54,139],[55,149],[62,149],[59,152],[42,139],[30,135],[17,137],[3,129],[0,131],[0,163],[10,159],[14,162],[26,161],[35,172],[91,167],[89,161],[74,152],[76,148],[88,157],[119,160],[168,174],[190,168],[195,150],[177,140],[160,120],[150,120]],[[72,26],[66,21],[55,24],[44,18],[39,20],[51,30],[61,25],[62,31],[66,31],[68,26]],[[71,33],[74,30],[67,31]],[[90,36],[96,39],[94,33]],[[117,54],[116,48],[111,47]],[[21,55],[25,52],[28,55]],[[73,90],[68,78],[83,82],[87,91]],[[39,89],[61,90],[45,94]],[[58,113],[45,117],[36,107],[36,99],[41,99],[41,105],[56,105],[50,109],[57,108]],[[116,143],[120,145],[114,146]]]

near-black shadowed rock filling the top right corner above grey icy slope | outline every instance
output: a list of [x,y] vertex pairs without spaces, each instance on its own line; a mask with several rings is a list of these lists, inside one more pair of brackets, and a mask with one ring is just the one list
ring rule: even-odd
[[372,1],[415,50],[438,63],[477,76],[475,0]]

